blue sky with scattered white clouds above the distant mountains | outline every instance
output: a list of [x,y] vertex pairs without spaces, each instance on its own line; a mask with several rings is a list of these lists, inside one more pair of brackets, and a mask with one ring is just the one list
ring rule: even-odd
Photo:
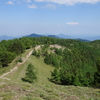
[[100,35],[100,0],[0,0],[0,36]]

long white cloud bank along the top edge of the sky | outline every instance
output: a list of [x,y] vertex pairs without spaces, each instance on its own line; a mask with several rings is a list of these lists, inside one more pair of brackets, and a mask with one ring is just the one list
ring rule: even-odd
[[100,0],[34,0],[36,2],[53,2],[58,4],[74,5],[76,3],[91,3],[95,4]]

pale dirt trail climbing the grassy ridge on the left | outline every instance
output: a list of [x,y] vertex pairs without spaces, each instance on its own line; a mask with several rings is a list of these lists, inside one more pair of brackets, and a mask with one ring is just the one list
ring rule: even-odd
[[7,73],[3,74],[2,76],[0,76],[0,78],[6,79],[6,80],[11,80],[11,79],[9,79],[9,78],[6,78],[5,76],[8,75],[8,74],[10,74],[10,73],[12,73],[12,72],[14,72],[15,70],[18,69],[18,67],[20,67],[23,63],[25,63],[26,60],[27,60],[27,59],[30,57],[30,55],[32,54],[32,52],[33,52],[33,50],[31,50],[31,51],[27,54],[26,58],[23,59],[23,62],[22,62],[22,63],[19,63],[19,62],[18,62],[18,64],[17,64],[13,69],[11,69],[9,72],[7,72]]

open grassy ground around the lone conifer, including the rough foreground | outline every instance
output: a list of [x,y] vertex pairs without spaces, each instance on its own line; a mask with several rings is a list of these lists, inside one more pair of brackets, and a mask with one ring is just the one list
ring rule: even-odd
[[[34,84],[21,80],[29,63],[37,71],[38,79]],[[50,71],[53,69],[44,63],[43,58],[31,55],[23,65],[7,76],[10,81],[0,79],[0,100],[100,100],[100,89],[61,86],[49,82]]]

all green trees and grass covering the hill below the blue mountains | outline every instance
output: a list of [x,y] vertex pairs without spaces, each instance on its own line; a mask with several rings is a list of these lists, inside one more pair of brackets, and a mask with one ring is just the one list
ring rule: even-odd
[[100,100],[99,40],[23,37],[0,47],[1,75],[22,63],[6,76],[10,80],[0,78],[0,100]]

